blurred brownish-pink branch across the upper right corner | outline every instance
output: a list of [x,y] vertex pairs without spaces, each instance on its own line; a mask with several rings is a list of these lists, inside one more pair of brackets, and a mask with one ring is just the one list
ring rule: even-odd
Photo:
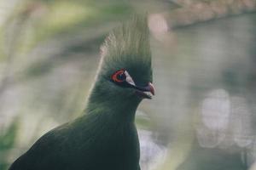
[[195,1],[193,3],[192,1],[175,2],[183,7],[177,8],[170,13],[164,13],[170,27],[189,26],[202,21],[256,11],[255,0]]

